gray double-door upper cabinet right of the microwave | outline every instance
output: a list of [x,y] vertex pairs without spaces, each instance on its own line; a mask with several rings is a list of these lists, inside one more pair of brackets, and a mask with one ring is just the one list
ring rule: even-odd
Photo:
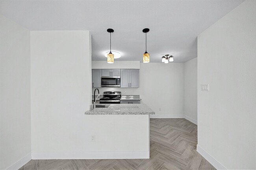
[[121,69],[121,88],[139,88],[139,69]]

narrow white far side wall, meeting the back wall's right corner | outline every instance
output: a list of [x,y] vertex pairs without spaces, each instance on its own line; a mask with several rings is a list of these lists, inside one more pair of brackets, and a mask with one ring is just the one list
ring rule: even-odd
[[184,63],[184,114],[197,121],[197,58]]

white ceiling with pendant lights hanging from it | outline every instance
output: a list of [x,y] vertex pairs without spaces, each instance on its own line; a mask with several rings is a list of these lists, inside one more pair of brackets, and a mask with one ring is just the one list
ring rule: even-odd
[[242,0],[160,1],[1,1],[1,14],[30,30],[90,30],[92,60],[106,60],[108,28],[114,29],[116,61],[140,60],[145,33],[150,62],[165,54],[174,62],[197,57],[197,35],[241,4]]

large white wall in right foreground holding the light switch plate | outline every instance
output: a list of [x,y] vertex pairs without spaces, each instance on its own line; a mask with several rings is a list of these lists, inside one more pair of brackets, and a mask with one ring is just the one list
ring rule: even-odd
[[245,1],[198,36],[198,145],[227,169],[256,169],[255,9]]

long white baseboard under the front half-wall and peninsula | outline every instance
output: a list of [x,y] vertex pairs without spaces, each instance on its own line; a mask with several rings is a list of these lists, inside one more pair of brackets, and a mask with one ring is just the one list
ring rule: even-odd
[[32,159],[148,159],[149,151],[139,152],[32,152]]

